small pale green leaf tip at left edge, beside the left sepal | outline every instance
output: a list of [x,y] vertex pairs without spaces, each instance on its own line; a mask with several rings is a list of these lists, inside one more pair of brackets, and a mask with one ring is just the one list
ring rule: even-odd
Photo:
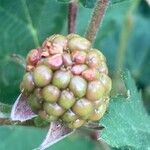
[[9,118],[11,112],[11,106],[0,103],[0,118]]

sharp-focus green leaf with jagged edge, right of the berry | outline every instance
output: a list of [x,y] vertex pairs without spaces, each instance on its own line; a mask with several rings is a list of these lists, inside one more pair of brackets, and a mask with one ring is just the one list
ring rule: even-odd
[[108,113],[100,121],[105,127],[101,138],[115,148],[149,149],[150,116],[129,72],[124,75],[124,82],[128,97],[111,99]]

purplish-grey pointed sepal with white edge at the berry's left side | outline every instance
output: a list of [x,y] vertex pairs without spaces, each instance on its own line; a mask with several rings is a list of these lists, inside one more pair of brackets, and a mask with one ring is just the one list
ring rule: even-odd
[[12,107],[11,120],[23,122],[36,116],[27,103],[27,97],[21,93]]

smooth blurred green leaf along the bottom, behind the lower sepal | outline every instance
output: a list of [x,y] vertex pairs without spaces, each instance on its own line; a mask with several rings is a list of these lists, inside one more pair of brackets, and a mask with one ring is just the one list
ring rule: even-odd
[[[31,150],[38,147],[46,136],[47,129],[25,126],[1,126],[0,150]],[[54,144],[49,150],[101,150],[101,145],[80,134],[72,134]]]

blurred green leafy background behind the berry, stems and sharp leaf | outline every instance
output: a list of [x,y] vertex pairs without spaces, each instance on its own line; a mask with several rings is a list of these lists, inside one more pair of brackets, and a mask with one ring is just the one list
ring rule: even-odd
[[[84,2],[82,3],[84,4]],[[79,4],[76,32],[84,35],[92,4]],[[91,7],[91,8],[90,8]],[[24,69],[12,54],[25,57],[51,34],[67,35],[67,3],[56,0],[0,0],[0,102],[12,105],[19,95]],[[128,69],[150,113],[150,6],[145,0],[111,2],[97,33],[94,47],[107,58],[113,78],[112,94],[120,91],[121,73]],[[0,150],[30,150],[38,146],[47,129],[0,126]],[[52,150],[103,150],[105,145],[79,134],[54,145]],[[108,148],[107,148],[108,149]]]

